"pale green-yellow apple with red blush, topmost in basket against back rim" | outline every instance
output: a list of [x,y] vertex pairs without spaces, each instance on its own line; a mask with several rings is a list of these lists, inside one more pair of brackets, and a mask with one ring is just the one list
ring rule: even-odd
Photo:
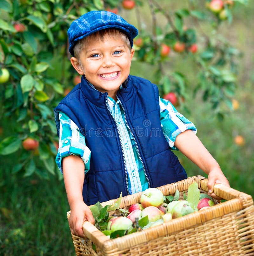
[[140,196],[140,203],[144,208],[148,206],[159,207],[163,201],[163,193],[157,188],[147,188]]

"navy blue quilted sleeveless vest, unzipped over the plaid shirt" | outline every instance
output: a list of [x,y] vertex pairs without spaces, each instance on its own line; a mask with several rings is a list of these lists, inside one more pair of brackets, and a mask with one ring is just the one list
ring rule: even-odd
[[[83,76],[81,83],[55,108],[66,113],[85,136],[91,150],[90,170],[85,175],[83,199],[88,205],[128,195],[128,178],[122,142],[112,118],[107,92],[94,90]],[[150,187],[158,187],[187,178],[183,166],[170,150],[160,123],[158,88],[150,81],[129,76],[117,92],[125,121],[135,139]]]

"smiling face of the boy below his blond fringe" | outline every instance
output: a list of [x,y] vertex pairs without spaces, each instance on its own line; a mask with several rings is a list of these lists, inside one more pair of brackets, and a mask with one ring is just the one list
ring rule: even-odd
[[[130,64],[134,50],[128,48],[122,38],[113,39],[109,36],[101,40],[92,40],[80,56],[72,57],[71,63],[80,75],[101,92],[108,92],[111,98],[116,99],[120,85],[130,74]],[[77,61],[77,59],[76,59]]]

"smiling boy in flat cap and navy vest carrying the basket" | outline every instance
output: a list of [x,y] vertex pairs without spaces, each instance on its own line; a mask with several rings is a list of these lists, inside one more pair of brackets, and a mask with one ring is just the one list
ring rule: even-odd
[[57,165],[64,175],[70,228],[84,236],[87,205],[176,182],[187,174],[171,149],[179,149],[208,174],[208,188],[229,182],[195,135],[196,127],[157,86],[130,76],[137,29],[122,17],[90,11],[68,30],[70,61],[80,84],[59,103]]

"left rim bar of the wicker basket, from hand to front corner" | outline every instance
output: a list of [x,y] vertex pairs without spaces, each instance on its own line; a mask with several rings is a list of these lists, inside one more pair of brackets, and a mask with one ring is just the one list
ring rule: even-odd
[[85,221],[82,225],[84,235],[93,241],[97,246],[102,248],[105,241],[110,240],[104,233],[99,231],[96,226],[94,226],[89,221]]

